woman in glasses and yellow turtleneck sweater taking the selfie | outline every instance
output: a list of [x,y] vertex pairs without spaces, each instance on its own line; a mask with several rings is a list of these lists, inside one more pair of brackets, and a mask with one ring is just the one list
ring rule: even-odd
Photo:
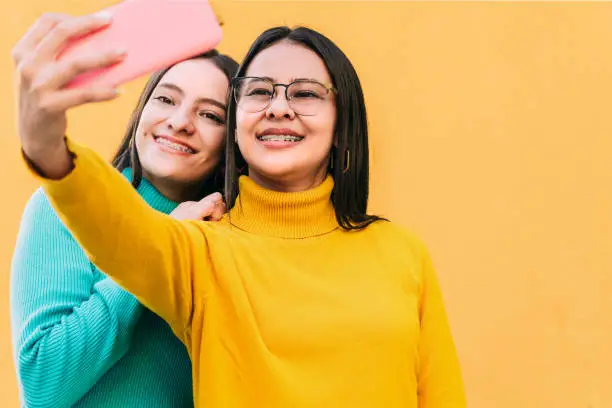
[[77,70],[55,53],[92,21],[16,47],[24,156],[93,262],[186,344],[196,406],[465,407],[425,247],[366,214],[366,112],[342,51],[305,28],[261,34],[228,106],[233,208],[218,223],[178,221],[64,138],[68,108],[114,97],[62,89]]

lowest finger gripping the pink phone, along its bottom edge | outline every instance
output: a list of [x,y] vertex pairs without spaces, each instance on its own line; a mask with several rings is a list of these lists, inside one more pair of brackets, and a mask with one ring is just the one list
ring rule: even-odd
[[46,114],[59,114],[86,103],[105,102],[115,99],[119,95],[112,88],[75,88],[50,94],[43,100],[39,109]]

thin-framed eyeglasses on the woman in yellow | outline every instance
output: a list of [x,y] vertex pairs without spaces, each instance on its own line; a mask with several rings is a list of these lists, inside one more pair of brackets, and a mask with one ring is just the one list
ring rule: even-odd
[[275,84],[267,78],[237,77],[232,80],[232,86],[238,108],[251,113],[267,109],[279,86],[285,87],[285,98],[291,110],[302,116],[316,115],[329,93],[337,93],[332,86],[311,79]]

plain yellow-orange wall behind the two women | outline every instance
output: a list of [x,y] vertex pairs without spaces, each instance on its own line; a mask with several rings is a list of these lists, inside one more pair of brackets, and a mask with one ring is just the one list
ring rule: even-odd
[[[18,155],[9,50],[44,11],[107,4],[3,6],[3,407],[17,406],[9,263],[36,187]],[[236,58],[262,29],[304,23],[356,65],[372,209],[431,249],[470,406],[612,407],[612,4],[236,1],[221,12],[220,48]],[[110,157],[143,83],[74,111],[72,137]]]

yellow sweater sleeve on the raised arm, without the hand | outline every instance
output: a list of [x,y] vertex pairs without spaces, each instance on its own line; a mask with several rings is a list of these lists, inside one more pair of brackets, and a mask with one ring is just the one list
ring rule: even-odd
[[68,144],[75,168],[62,180],[40,179],[60,219],[96,266],[173,329],[186,328],[193,291],[207,289],[204,233],[153,210],[101,157]]

